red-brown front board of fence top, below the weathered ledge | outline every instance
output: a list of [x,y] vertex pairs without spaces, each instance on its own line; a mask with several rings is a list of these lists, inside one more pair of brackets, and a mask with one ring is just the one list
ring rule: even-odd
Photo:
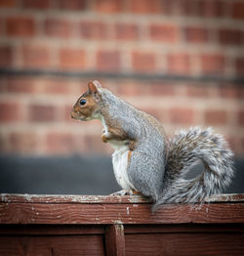
[[0,203],[0,224],[244,223],[244,203],[150,204]]

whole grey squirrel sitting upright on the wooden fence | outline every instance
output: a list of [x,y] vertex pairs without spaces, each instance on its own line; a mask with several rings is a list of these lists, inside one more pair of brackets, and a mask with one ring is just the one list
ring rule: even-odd
[[[233,153],[211,128],[193,127],[167,138],[156,118],[116,97],[98,81],[88,83],[71,117],[102,121],[102,142],[114,149],[113,170],[123,189],[119,193],[149,196],[153,211],[163,203],[201,202],[222,192],[233,177]],[[186,180],[185,174],[198,160],[204,166],[202,174]]]

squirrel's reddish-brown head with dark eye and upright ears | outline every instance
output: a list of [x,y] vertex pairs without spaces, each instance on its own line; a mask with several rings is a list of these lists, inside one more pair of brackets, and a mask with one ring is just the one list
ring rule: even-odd
[[70,115],[72,118],[88,121],[98,118],[98,108],[101,100],[99,89],[102,85],[98,81],[88,83],[88,90],[76,102]]

